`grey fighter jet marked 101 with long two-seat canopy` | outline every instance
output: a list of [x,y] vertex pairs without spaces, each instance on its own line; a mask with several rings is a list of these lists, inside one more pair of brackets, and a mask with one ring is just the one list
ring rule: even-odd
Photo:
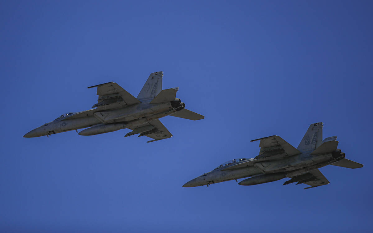
[[311,124],[302,141],[295,149],[280,136],[273,135],[260,140],[260,152],[255,158],[238,158],[220,164],[216,169],[204,173],[185,183],[183,187],[196,187],[251,177],[239,182],[239,185],[258,185],[291,178],[283,185],[297,182],[314,188],[329,184],[329,180],[319,171],[327,165],[360,168],[363,164],[345,158],[345,153],[337,149],[337,136],[323,138],[323,123]]

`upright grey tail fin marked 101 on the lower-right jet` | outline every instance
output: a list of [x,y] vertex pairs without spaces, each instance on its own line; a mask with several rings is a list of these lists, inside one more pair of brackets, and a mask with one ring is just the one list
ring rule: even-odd
[[319,147],[323,143],[323,126],[322,122],[311,124],[297,149],[305,152]]

